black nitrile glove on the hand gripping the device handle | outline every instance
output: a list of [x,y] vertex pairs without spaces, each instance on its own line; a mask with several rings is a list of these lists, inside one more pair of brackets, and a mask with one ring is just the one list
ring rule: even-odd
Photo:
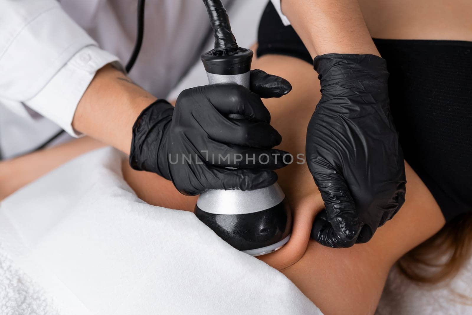
[[[273,170],[285,166],[287,152],[271,149],[282,137],[270,126],[261,97],[280,97],[291,88],[281,77],[253,70],[251,91],[236,84],[194,87],[179,95],[175,109],[158,100],[133,126],[129,163],[172,180],[185,195],[268,187],[277,181]],[[228,118],[231,114],[244,119]]]

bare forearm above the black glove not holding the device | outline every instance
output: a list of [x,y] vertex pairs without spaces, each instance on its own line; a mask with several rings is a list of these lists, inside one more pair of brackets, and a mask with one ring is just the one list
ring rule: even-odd
[[313,58],[326,53],[380,56],[357,0],[282,0],[281,4]]

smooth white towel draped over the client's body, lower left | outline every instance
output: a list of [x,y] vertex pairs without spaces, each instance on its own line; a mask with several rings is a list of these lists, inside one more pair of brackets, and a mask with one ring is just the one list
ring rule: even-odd
[[0,204],[0,242],[66,314],[320,314],[282,273],[193,213],[138,199],[111,148]]

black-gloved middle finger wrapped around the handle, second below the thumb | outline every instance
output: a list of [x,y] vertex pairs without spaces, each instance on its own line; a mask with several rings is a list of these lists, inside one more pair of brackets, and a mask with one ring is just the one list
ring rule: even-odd
[[203,128],[211,139],[232,145],[271,148],[282,142],[278,131],[263,121],[221,118]]

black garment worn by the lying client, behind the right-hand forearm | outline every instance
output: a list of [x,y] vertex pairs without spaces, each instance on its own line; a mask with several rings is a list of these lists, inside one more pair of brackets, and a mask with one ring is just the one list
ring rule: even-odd
[[[390,107],[405,161],[428,187],[446,221],[472,212],[472,42],[373,41],[387,60]],[[271,2],[259,26],[257,55],[265,54],[313,63]]]

